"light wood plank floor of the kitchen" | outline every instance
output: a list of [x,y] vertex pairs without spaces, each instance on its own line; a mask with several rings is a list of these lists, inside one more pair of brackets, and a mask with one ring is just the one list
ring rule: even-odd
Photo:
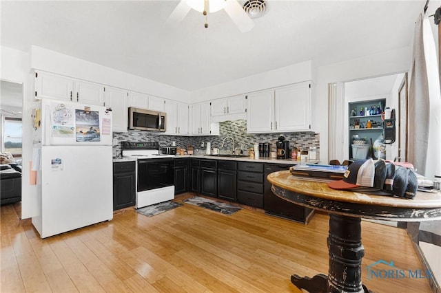
[[[328,221],[316,214],[304,226],[256,210],[227,216],[184,204],[154,217],[126,209],[41,239],[13,205],[2,206],[0,292],[299,292],[291,274],[327,273]],[[367,277],[367,265],[380,259],[422,269],[405,230],[362,221],[362,239],[369,290],[431,292],[427,279]]]

